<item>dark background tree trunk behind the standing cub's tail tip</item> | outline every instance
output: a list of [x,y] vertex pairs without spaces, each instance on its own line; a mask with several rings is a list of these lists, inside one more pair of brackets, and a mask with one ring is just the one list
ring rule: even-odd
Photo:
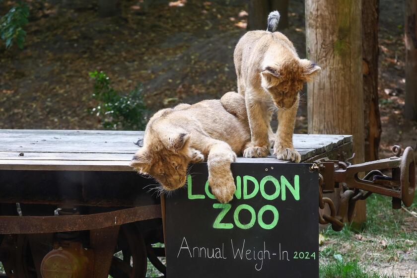
[[266,30],[268,14],[278,10],[278,31],[288,27],[289,0],[251,0],[249,2],[248,30]]

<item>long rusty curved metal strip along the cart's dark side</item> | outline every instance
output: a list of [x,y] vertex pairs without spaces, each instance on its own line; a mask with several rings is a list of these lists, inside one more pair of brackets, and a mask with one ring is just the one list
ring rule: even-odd
[[119,209],[85,215],[0,216],[0,234],[94,230],[161,217],[160,205]]

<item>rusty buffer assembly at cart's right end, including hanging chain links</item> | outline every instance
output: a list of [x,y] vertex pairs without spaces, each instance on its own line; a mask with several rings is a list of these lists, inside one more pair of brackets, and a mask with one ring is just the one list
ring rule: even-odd
[[[319,171],[319,208],[324,209],[327,204],[330,209],[330,215],[323,212],[319,216],[319,223],[331,223],[333,230],[341,231],[344,219],[352,220],[356,202],[365,200],[372,193],[392,197],[393,209],[401,209],[402,203],[410,207],[416,191],[413,148],[407,147],[402,156],[400,146],[393,146],[392,151],[394,156],[390,158],[354,165],[328,158],[315,161],[311,171]],[[390,171],[391,176],[385,175],[383,170]],[[340,185],[340,204],[336,208],[333,201],[323,194],[334,192]]]

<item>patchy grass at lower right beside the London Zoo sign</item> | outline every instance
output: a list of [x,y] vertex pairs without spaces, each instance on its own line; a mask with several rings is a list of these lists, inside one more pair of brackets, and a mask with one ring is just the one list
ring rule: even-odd
[[[417,219],[403,209],[392,209],[391,199],[385,196],[371,195],[366,204],[367,221],[362,231],[346,224],[340,232],[331,227],[322,232],[325,237],[320,246],[323,274],[337,273],[338,268],[343,267],[350,269],[357,266],[357,262],[365,269],[370,269],[371,265],[391,265],[396,269],[399,263],[407,261],[407,265],[416,266],[410,266],[411,269],[417,269]],[[417,200],[408,209],[417,211]],[[350,261],[335,261],[336,254]],[[334,277],[379,277],[372,275]]]

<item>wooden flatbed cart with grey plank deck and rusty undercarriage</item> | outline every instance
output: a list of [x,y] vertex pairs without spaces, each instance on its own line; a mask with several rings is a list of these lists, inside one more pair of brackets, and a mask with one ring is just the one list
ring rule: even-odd
[[[0,130],[2,277],[141,278],[148,261],[165,274],[158,259],[164,249],[153,246],[164,239],[161,201],[147,193],[156,182],[129,166],[142,136],[133,131]],[[294,135],[294,147],[304,162],[325,156],[344,160],[352,139]],[[286,163],[274,157],[235,163],[249,161]]]

